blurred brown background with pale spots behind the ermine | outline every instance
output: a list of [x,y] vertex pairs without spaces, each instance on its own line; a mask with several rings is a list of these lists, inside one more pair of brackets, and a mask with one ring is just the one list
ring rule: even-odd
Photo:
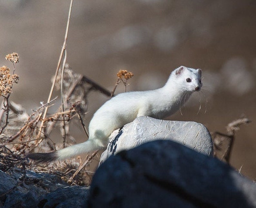
[[[10,99],[28,112],[47,100],[69,4],[0,1],[0,63],[11,67],[5,55],[19,53],[20,80]],[[74,0],[67,62],[109,90],[119,69],[132,71],[129,91],[161,87],[181,65],[202,68],[202,91],[182,108],[183,115],[169,119],[201,122],[212,132],[225,132],[241,116],[251,119],[236,134],[231,165],[255,179],[255,11],[255,0]],[[120,85],[117,92],[123,90]],[[90,96],[88,121],[106,100]]]

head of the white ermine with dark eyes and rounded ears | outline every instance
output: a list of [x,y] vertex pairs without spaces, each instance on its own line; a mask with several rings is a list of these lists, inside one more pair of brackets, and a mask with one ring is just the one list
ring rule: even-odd
[[201,69],[193,69],[181,66],[176,68],[171,77],[174,79],[176,86],[185,91],[200,91],[202,87],[202,70]]

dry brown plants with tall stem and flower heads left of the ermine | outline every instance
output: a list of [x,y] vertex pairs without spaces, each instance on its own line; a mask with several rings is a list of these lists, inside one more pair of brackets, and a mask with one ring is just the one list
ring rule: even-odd
[[[53,164],[35,164],[24,159],[28,153],[51,152],[64,148],[75,143],[74,137],[70,133],[70,125],[74,122],[80,123],[84,130],[85,138],[88,132],[84,125],[88,110],[88,94],[97,91],[108,97],[114,95],[116,86],[123,81],[127,86],[127,81],[133,73],[120,70],[117,83],[112,92],[109,92],[88,77],[75,73],[66,63],[66,41],[71,16],[73,0],[70,1],[66,32],[63,47],[60,53],[57,68],[52,78],[52,87],[46,103],[41,102],[41,106],[28,114],[25,109],[12,101],[9,97],[13,90],[13,84],[18,83],[19,76],[15,74],[15,65],[19,62],[19,55],[14,52],[6,55],[6,60],[13,63],[13,74],[9,68],[3,66],[0,69],[0,95],[4,98],[0,111],[0,169],[8,171],[18,168],[24,171],[29,168],[34,171],[54,173],[70,184],[89,185],[93,172],[89,171],[93,160],[99,160],[99,154],[95,151],[88,154],[84,160],[81,158],[58,161]],[[55,90],[60,91],[60,107],[54,113],[48,113],[48,108],[56,105],[59,101],[57,97],[52,98]],[[59,128],[63,138],[62,144],[55,144],[51,139],[51,133]]]

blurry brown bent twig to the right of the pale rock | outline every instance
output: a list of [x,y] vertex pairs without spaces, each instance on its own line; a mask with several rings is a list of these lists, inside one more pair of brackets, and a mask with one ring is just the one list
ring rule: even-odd
[[213,145],[214,145],[214,155],[230,163],[231,150],[235,140],[235,132],[240,129],[242,124],[247,124],[251,122],[248,118],[236,119],[226,126],[227,133],[214,132],[212,134]]

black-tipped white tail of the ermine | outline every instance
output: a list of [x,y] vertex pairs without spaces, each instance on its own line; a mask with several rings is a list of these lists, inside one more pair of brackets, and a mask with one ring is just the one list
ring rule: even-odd
[[47,163],[54,160],[72,158],[75,155],[79,155],[85,152],[91,152],[97,149],[100,149],[100,147],[96,144],[95,140],[87,140],[84,143],[75,144],[55,152],[32,153],[29,154],[27,158],[35,160],[37,163]]

